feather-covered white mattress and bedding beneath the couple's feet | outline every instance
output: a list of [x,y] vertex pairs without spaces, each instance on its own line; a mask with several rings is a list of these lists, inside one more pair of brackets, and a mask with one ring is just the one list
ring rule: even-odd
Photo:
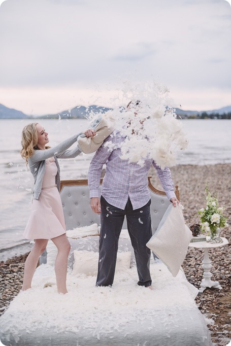
[[[68,273],[68,294],[58,294],[54,267],[36,270],[32,289],[20,292],[0,320],[5,345],[211,345],[198,290],[182,270],[150,266],[154,290],[137,285],[137,269],[115,275],[113,287],[95,287],[95,276]],[[196,333],[196,334],[195,334]]]

